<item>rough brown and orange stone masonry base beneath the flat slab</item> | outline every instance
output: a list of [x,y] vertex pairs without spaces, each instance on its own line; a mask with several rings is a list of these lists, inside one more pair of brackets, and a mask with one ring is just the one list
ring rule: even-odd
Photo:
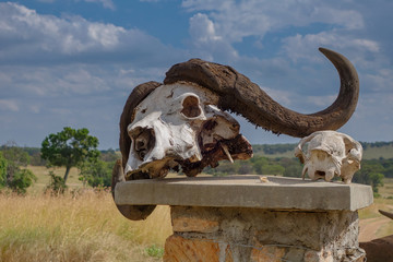
[[164,261],[333,262],[364,258],[357,241],[357,212],[171,206],[171,216],[172,223],[193,219],[174,227]]

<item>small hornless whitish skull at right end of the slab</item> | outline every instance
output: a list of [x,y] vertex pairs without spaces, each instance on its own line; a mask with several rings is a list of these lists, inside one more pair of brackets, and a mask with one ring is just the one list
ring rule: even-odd
[[[306,153],[303,152],[306,148]],[[318,131],[303,138],[295,150],[295,156],[305,164],[312,180],[331,181],[335,176],[350,183],[354,174],[360,169],[361,144],[350,136],[335,131]]]

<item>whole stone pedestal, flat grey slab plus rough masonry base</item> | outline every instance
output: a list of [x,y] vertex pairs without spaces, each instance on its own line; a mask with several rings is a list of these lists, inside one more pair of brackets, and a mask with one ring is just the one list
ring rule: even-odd
[[120,205],[167,204],[174,235],[164,261],[364,261],[362,184],[230,176],[119,183]]

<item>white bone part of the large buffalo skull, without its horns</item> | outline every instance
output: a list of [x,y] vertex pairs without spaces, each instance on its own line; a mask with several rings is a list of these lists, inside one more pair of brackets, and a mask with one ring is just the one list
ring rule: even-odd
[[164,177],[179,163],[201,162],[202,151],[236,138],[239,123],[214,106],[217,102],[216,94],[191,83],[178,82],[153,91],[138,105],[128,126],[131,147],[126,177],[135,172]]

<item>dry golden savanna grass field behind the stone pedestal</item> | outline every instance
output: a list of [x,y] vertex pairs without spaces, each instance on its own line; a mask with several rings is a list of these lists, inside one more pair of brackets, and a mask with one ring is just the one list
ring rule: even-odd
[[[26,195],[0,194],[0,261],[160,261],[171,234],[168,206],[143,222],[126,219],[108,190],[84,188],[71,170],[66,194],[43,193],[48,169]],[[63,169],[56,169],[58,175]],[[393,210],[393,179],[384,179],[374,204],[361,210],[360,241],[393,234],[393,222],[378,210]]]

